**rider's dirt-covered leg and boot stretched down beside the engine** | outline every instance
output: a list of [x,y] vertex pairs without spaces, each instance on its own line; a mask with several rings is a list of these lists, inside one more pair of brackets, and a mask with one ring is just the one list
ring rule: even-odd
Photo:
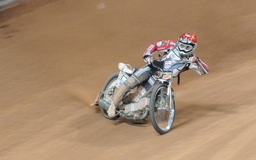
[[138,86],[138,84],[146,81],[150,76],[152,76],[152,71],[150,67],[143,67],[137,70],[131,77],[127,79],[119,88],[116,90],[115,94],[111,99],[111,104],[108,109],[108,116],[114,117],[116,107],[120,104],[124,96],[132,89]]

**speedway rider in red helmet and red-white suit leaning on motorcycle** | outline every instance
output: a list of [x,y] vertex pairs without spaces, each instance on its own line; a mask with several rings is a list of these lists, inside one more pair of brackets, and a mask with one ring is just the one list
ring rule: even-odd
[[143,68],[137,70],[131,77],[127,79],[119,88],[111,99],[111,104],[108,109],[108,116],[114,117],[115,111],[123,97],[132,89],[138,86],[138,84],[147,81],[156,71],[156,68],[152,67],[152,54],[154,52],[164,52],[164,57],[175,61],[189,60],[190,63],[183,67],[173,70],[173,77],[179,75],[180,72],[184,72],[189,69],[195,70],[201,76],[209,72],[209,68],[205,63],[195,56],[194,51],[196,49],[196,36],[191,33],[183,33],[177,43],[172,40],[163,40],[160,42],[153,42],[147,48],[143,54],[144,61],[148,63]]

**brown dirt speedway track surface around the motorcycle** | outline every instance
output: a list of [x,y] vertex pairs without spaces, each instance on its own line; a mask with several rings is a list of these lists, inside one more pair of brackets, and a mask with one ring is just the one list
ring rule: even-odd
[[[60,0],[0,26],[0,159],[255,159],[256,1]],[[173,130],[91,107],[118,62],[198,36],[210,73],[175,85]]]

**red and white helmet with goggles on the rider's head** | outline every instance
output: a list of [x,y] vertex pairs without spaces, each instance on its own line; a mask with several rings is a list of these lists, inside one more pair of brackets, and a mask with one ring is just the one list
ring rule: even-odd
[[177,49],[183,56],[188,57],[193,54],[196,49],[196,35],[187,32],[183,33],[177,42]]

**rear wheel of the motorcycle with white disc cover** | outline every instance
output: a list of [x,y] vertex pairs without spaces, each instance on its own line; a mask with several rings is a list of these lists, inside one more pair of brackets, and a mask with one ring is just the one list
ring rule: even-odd
[[[104,92],[104,94],[101,95],[100,99],[104,99],[107,102],[109,102],[109,100],[111,99],[111,97],[114,94],[114,87],[116,84],[116,80],[118,78],[118,74],[119,72],[113,74],[112,76],[109,77],[109,79],[106,81],[106,83],[104,84],[104,87],[102,89],[102,92]],[[108,116],[108,112],[103,109],[100,108],[100,110],[102,111],[103,115],[108,118],[109,120],[116,120],[117,118],[119,118],[120,116],[114,116],[114,117],[110,117]]]

